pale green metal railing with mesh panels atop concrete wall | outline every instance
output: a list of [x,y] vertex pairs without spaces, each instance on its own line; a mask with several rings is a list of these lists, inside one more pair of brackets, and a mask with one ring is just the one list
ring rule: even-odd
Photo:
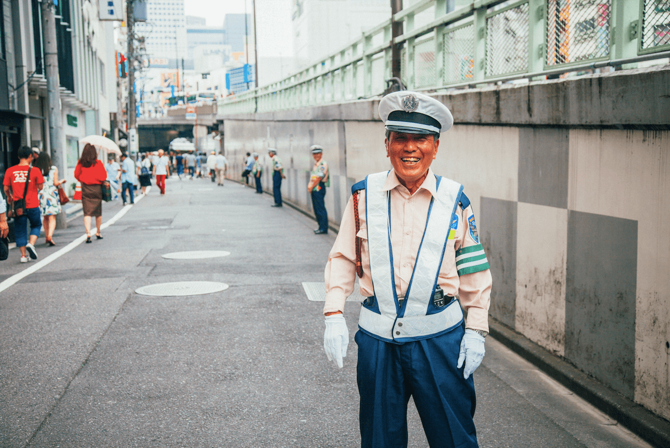
[[446,0],[409,2],[328,58],[283,80],[218,102],[220,115],[269,112],[383,94],[391,46],[412,90],[544,79],[670,57],[670,0]]

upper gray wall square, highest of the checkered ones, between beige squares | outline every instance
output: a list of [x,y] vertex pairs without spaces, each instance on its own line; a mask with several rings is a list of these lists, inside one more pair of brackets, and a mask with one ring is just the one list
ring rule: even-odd
[[567,208],[568,129],[519,128],[519,202]]

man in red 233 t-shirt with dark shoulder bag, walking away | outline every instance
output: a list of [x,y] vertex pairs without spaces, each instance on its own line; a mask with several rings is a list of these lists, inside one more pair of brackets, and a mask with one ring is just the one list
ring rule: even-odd
[[[28,190],[25,192],[23,215],[14,218],[14,236],[16,245],[21,250],[21,263],[27,263],[28,256],[33,260],[38,258],[38,252],[35,250],[34,244],[40,236],[40,230],[42,230],[38,191],[42,190],[44,177],[42,177],[42,172],[39,169],[30,166],[31,159],[31,149],[27,146],[20,147],[19,164],[7,168],[3,180],[3,188],[5,189],[5,196],[7,196],[7,208],[13,207],[12,203],[15,200],[23,199],[26,181],[28,185]],[[30,221],[29,242],[27,221]]]

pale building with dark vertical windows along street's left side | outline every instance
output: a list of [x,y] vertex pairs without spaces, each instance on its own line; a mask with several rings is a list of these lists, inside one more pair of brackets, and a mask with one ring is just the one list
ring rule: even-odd
[[[51,151],[44,73],[41,3],[0,2],[0,180],[17,163],[21,145]],[[120,12],[120,11],[119,11]],[[103,14],[105,15],[105,14]],[[100,20],[98,2],[60,0],[56,40],[62,115],[62,157],[70,187],[79,140],[113,134],[117,88],[113,21]]]

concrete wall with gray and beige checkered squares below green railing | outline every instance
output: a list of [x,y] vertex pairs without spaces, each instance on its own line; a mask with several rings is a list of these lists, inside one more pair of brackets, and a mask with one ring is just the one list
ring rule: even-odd
[[[437,96],[456,125],[436,173],[465,185],[494,278],[490,314],[670,419],[670,67]],[[279,149],[311,210],[323,145],[338,223],[348,186],[389,168],[377,100],[221,117],[232,176]],[[266,190],[269,177],[263,179]]]

